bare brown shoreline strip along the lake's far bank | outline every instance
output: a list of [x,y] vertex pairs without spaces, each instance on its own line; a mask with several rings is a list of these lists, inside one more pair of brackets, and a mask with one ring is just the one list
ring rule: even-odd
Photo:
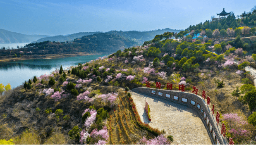
[[29,60],[29,59],[54,59],[54,58],[65,58],[65,57],[78,57],[86,55],[100,55],[87,52],[75,52],[75,53],[60,53],[52,55],[24,55],[22,57],[3,57],[0,58],[0,62],[14,62],[20,60]]

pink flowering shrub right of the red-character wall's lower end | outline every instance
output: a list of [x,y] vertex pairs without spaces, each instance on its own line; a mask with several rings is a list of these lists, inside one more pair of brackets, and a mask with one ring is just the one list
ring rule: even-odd
[[249,137],[250,132],[244,129],[248,125],[248,122],[244,121],[241,116],[233,113],[223,114],[222,121],[224,121],[228,128],[227,132],[231,133],[234,138],[243,140]]

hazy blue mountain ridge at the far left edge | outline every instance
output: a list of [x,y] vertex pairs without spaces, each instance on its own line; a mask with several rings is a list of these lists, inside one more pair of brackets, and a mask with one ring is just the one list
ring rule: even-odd
[[47,35],[26,35],[0,29],[0,43],[29,43],[41,38],[49,37]]

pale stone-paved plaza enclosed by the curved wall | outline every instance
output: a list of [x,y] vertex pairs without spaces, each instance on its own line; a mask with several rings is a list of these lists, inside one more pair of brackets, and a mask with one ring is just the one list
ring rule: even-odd
[[[212,144],[203,122],[195,110],[162,98],[135,93],[132,98],[141,117],[141,121],[159,130],[164,129],[166,135],[172,135],[173,144]],[[145,99],[151,109],[151,121],[148,121]]]

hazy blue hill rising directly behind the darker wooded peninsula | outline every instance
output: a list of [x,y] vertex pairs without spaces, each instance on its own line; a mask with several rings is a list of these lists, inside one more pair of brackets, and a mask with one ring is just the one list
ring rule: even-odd
[[79,33],[74,33],[68,36],[53,36],[53,37],[45,37],[45,38],[41,38],[36,40],[36,42],[43,42],[43,41],[59,41],[59,42],[65,42],[65,41],[72,41],[75,38],[81,38],[82,36],[87,36],[87,35],[92,35],[95,33],[101,33],[101,32],[79,32]]

